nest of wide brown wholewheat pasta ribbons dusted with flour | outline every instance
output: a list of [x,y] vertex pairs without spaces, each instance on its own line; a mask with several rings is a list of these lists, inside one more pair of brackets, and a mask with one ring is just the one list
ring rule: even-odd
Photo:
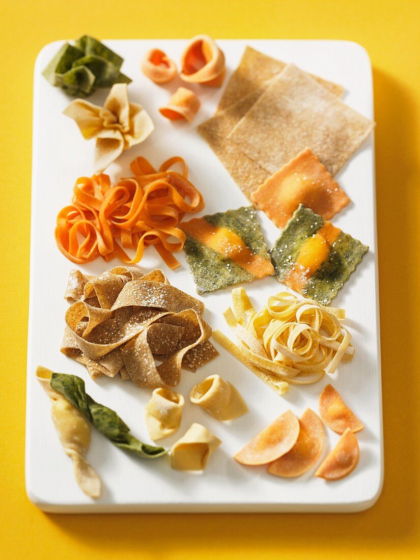
[[[204,304],[170,286],[161,270],[116,267],[101,276],[72,270],[65,296],[63,354],[93,379],[119,374],[139,387],[178,385],[218,352],[202,318]],[[160,363],[157,363],[160,362]]]

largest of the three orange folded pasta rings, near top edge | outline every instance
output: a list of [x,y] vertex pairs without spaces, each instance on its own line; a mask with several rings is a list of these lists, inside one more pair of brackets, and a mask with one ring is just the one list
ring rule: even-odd
[[197,35],[181,55],[180,77],[185,82],[220,87],[225,80],[225,55],[208,35]]

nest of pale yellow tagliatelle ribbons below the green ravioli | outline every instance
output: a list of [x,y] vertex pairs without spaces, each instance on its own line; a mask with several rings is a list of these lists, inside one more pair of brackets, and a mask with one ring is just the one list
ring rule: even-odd
[[343,309],[280,292],[257,313],[244,288],[235,288],[224,316],[239,347],[219,331],[213,337],[278,394],[290,383],[319,381],[353,357],[351,334],[340,322]]

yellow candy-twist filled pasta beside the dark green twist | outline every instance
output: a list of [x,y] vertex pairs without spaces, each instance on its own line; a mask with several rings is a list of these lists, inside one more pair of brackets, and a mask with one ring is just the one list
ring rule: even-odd
[[73,461],[77,484],[87,496],[99,498],[101,479],[85,459],[90,446],[90,425],[79,410],[50,387],[51,374],[52,371],[46,367],[36,368],[36,377],[52,402],[51,416],[60,442]]

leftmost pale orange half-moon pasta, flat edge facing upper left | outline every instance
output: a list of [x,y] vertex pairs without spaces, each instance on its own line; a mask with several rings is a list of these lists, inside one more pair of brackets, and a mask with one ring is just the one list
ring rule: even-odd
[[286,410],[245,445],[234,459],[242,465],[267,465],[290,451],[299,435],[299,421]]

